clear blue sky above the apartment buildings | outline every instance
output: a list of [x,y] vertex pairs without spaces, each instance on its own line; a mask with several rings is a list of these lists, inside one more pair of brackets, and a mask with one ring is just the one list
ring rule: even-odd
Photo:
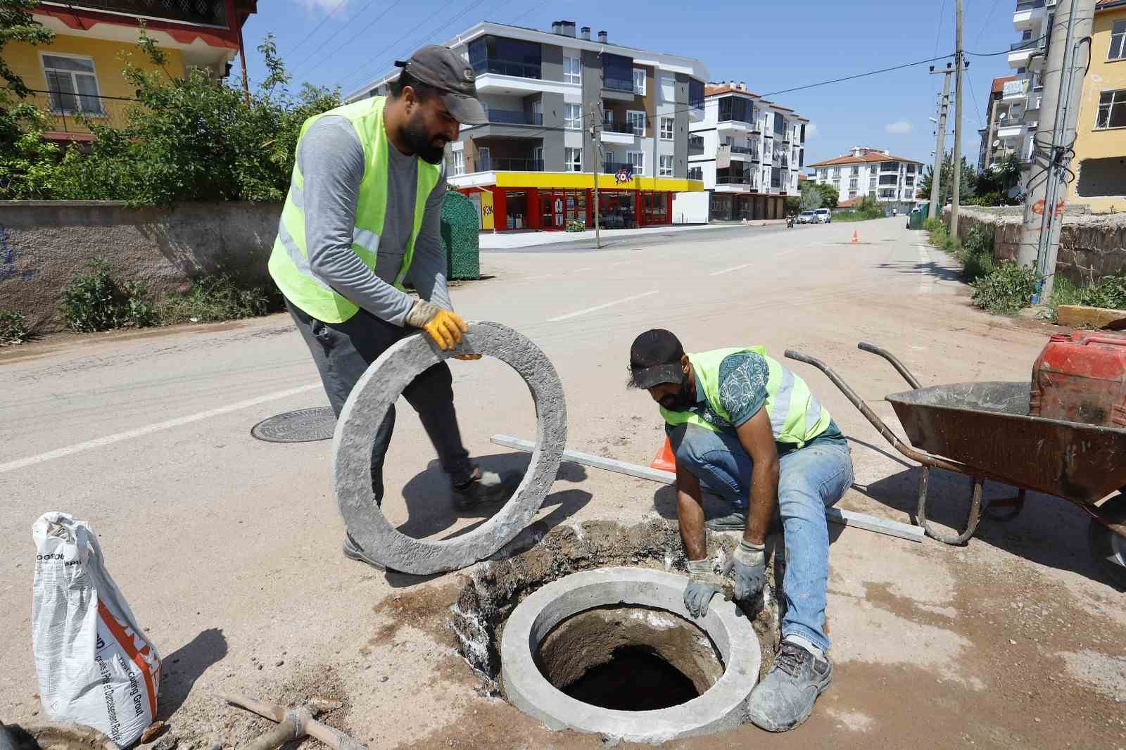
[[[265,75],[254,47],[272,33],[294,74],[294,88],[311,81],[348,92],[388,70],[392,60],[422,44],[444,42],[477,21],[549,30],[553,20],[565,18],[596,32],[607,29],[610,42],[696,57],[712,80],[744,80],[751,91],[769,95],[932,57],[936,50],[950,53],[954,5],[955,0],[780,5],[572,0],[561,12],[560,3],[545,0],[265,0],[243,35],[251,82]],[[1015,0],[966,0],[966,50],[998,52],[1017,41],[1015,5]],[[1011,71],[1004,55],[969,60],[963,152],[975,163],[990,82]],[[935,144],[933,124],[927,118],[935,114],[941,80],[919,65],[770,98],[814,124],[806,163],[854,145],[927,162]],[[947,139],[947,148],[953,148],[953,139]]]

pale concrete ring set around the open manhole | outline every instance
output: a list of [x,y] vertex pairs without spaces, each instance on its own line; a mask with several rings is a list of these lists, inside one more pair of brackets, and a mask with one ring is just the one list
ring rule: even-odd
[[[683,575],[645,568],[601,568],[548,583],[521,601],[504,624],[501,678],[504,695],[551,730],[571,729],[629,742],[667,742],[712,734],[743,722],[743,704],[759,679],[762,654],[751,622],[734,602],[716,596],[707,615],[685,609]],[[699,626],[723,657],[723,676],[688,703],[660,711],[613,711],[582,703],[547,681],[536,666],[544,637],[588,609],[637,605],[679,615]]]

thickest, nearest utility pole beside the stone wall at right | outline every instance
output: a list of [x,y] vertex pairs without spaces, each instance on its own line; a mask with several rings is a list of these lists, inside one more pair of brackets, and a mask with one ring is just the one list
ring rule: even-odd
[[[1040,110],[1046,117],[1033,141],[1033,166],[1025,197],[1025,221],[1020,227],[1017,261],[1035,266],[1044,278],[1034,302],[1052,296],[1060,230],[1063,226],[1064,194],[1067,190],[1071,145],[1075,142],[1083,74],[1091,54],[1090,36],[1094,23],[1094,0],[1062,0],[1048,35],[1044,64],[1044,98]],[[1085,54],[1081,46],[1087,44]],[[1051,119],[1049,119],[1051,118]],[[1051,140],[1040,134],[1051,133]]]

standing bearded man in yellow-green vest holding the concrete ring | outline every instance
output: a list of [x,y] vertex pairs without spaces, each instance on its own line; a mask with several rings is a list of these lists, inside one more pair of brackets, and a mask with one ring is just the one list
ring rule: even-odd
[[[449,48],[426,46],[395,64],[403,70],[390,97],[345,105],[302,126],[269,260],[337,417],[368,365],[402,337],[422,330],[449,349],[467,330],[446,289],[439,223],[444,154],[457,140],[459,124],[488,118],[473,69]],[[405,292],[406,279],[418,298]],[[434,443],[454,505],[471,510],[507,500],[519,476],[482,472],[470,461],[452,383],[449,367],[439,363],[403,396]],[[377,502],[394,423],[392,407],[372,452]],[[347,534],[343,552],[385,570],[381,551],[363,550]]]

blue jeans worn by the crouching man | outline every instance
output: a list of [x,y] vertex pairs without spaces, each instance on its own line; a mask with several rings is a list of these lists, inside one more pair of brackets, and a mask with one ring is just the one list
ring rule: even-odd
[[[733,435],[683,425],[670,436],[677,464],[707,489],[745,509],[751,486],[751,457]],[[825,589],[829,584],[829,528],[825,508],[852,484],[848,445],[806,446],[780,459],[778,512],[786,547],[781,634],[801,635],[828,651]]]

